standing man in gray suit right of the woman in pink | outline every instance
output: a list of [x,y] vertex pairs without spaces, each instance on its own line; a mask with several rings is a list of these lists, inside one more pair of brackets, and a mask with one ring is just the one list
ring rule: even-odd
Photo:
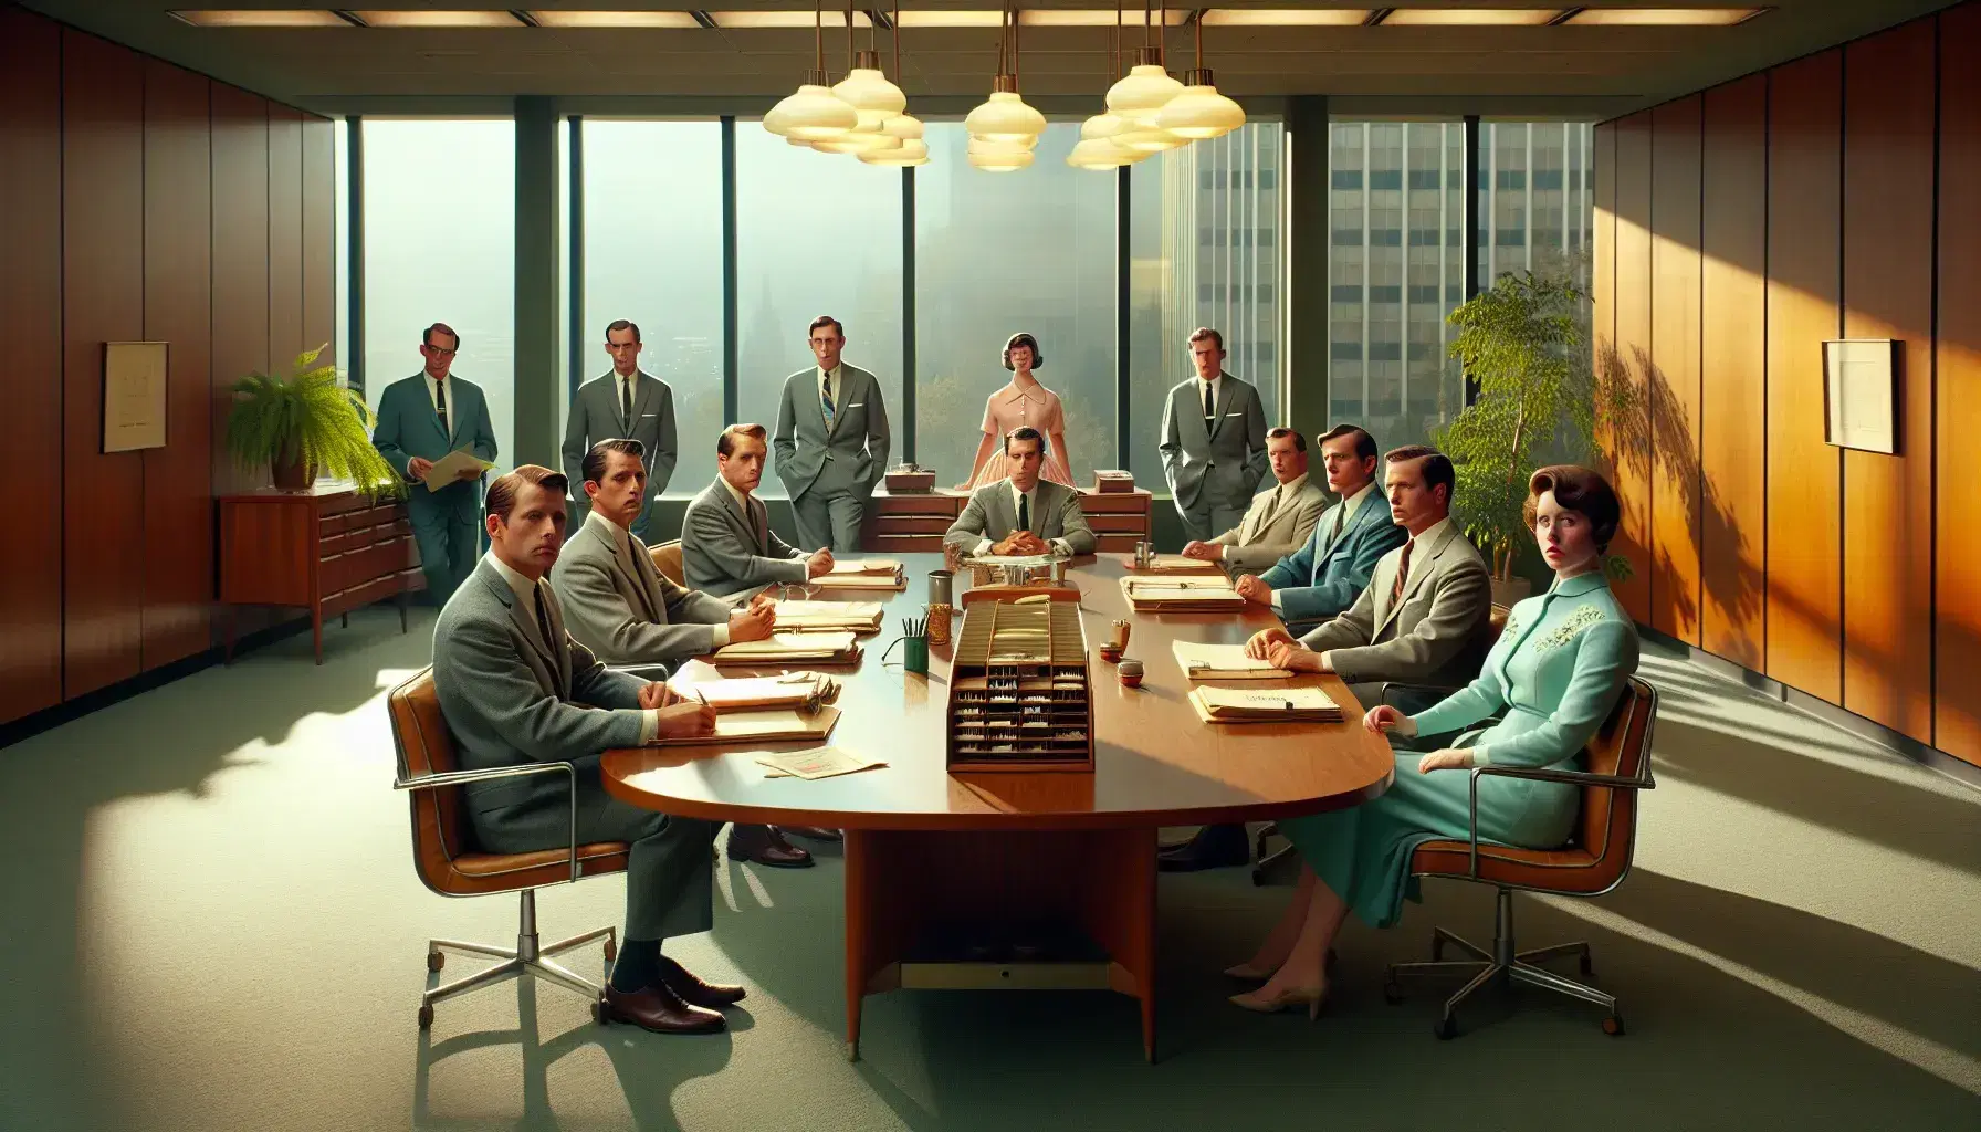
[[1266,408],[1252,385],[1224,373],[1224,335],[1191,333],[1197,377],[1163,404],[1163,478],[1183,515],[1183,533],[1208,541],[1244,519],[1266,478]]

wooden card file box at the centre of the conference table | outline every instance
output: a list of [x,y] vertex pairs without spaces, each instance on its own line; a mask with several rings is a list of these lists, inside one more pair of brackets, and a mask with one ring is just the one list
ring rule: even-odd
[[963,609],[949,666],[949,769],[1094,773],[1094,684],[1078,593],[1026,605],[1016,601],[1022,593],[998,597]]

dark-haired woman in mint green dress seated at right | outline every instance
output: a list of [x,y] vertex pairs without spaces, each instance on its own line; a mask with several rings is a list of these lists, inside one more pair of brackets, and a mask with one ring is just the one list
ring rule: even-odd
[[[1460,771],[1486,763],[1577,769],[1583,745],[1616,706],[1636,672],[1636,626],[1603,577],[1620,517],[1616,492],[1587,468],[1541,468],[1527,482],[1525,515],[1555,571],[1549,591],[1513,607],[1470,686],[1416,716],[1371,708],[1363,726],[1410,737],[1460,732],[1502,708],[1506,718],[1428,755],[1399,751],[1395,783],[1375,801],[1280,823],[1305,864],[1258,954],[1226,971],[1264,979],[1258,991],[1232,995],[1234,1003],[1317,1015],[1327,995],[1323,958],[1347,914],[1389,928],[1405,896],[1416,898],[1416,847],[1468,837],[1472,775]],[[1565,783],[1488,775],[1478,795],[1480,841],[1527,849],[1567,843],[1581,809],[1581,791]]]

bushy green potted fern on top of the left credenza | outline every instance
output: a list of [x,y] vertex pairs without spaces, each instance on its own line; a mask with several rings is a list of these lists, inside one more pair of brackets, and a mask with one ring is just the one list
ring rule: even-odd
[[337,367],[317,365],[323,349],[295,355],[287,377],[250,373],[234,383],[228,454],[242,470],[267,466],[283,492],[329,476],[366,496],[398,494],[398,476],[370,442],[370,408],[337,383]]

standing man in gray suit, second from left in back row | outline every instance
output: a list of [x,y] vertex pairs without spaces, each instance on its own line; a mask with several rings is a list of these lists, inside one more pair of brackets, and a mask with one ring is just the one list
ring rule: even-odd
[[[674,478],[674,391],[666,381],[640,369],[640,327],[626,319],[606,327],[606,353],[612,369],[578,387],[565,420],[565,478],[584,482],[584,454],[592,444],[610,438],[638,440],[646,450],[646,500],[632,533],[652,541],[654,500]],[[573,496],[584,504],[582,498]],[[578,515],[584,508],[578,508]]]

